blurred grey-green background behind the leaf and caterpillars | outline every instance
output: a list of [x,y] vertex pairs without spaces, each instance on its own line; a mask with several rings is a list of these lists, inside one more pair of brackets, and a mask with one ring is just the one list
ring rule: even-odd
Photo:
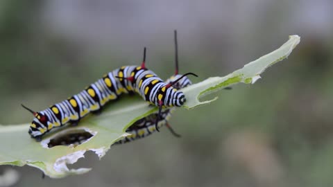
[[[333,2],[319,1],[0,1],[0,123],[31,121],[20,107],[45,109],[103,73],[139,64],[173,73],[226,75],[297,34],[287,60],[256,84],[219,100],[178,109],[171,125],[99,161],[85,175],[41,179],[15,167],[15,186],[333,186]],[[28,129],[27,129],[28,131]],[[10,166],[1,166],[8,168]]]

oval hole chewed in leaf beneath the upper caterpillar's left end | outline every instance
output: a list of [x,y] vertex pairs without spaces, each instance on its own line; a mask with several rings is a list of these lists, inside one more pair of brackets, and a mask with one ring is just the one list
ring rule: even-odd
[[69,130],[65,133],[56,134],[51,139],[49,139],[49,143],[47,143],[48,148],[53,148],[58,145],[71,145],[76,147],[81,143],[85,143],[89,140],[94,134],[88,132],[85,129],[76,129]]

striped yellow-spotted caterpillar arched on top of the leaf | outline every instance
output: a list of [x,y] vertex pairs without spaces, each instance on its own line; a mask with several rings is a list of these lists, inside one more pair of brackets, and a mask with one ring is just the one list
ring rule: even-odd
[[162,115],[162,107],[180,107],[185,101],[185,94],[173,88],[173,85],[187,75],[185,73],[173,82],[163,82],[153,71],[146,69],[146,47],[141,66],[122,66],[115,69],[103,78],[90,84],[79,94],[67,98],[60,103],[52,105],[40,112],[22,105],[34,118],[28,130],[28,134],[36,141],[41,141],[42,136],[67,123],[78,125],[81,118],[89,113],[98,114],[102,107],[110,100],[116,100],[121,94],[137,93],[151,105],[158,107],[155,129]]

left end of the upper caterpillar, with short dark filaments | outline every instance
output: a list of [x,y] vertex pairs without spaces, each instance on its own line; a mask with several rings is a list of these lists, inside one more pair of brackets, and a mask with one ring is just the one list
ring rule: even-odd
[[28,133],[31,135],[31,138],[36,139],[37,141],[41,141],[42,135],[47,132],[47,121],[49,121],[49,119],[44,114],[44,112],[33,112],[33,110],[25,107],[24,105],[22,105],[22,107],[27,109],[33,114],[33,116],[35,116],[30,124]]

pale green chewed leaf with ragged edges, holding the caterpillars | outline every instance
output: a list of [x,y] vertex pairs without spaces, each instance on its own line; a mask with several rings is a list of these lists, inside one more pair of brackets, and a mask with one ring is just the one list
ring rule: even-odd
[[[214,91],[219,91],[232,84],[244,82],[255,83],[268,66],[288,57],[293,48],[300,42],[300,37],[292,35],[280,48],[246,64],[242,69],[224,77],[208,78],[203,82],[193,84],[182,91],[187,97],[183,107],[191,109],[216,100],[199,101],[199,98]],[[84,157],[88,150],[94,151],[101,158],[115,141],[128,136],[126,128],[139,118],[156,112],[156,107],[148,106],[138,96],[123,96],[121,100],[110,103],[99,116],[89,115],[80,121],[76,127],[60,127],[43,137],[38,143],[28,135],[29,124],[0,125],[0,164],[15,166],[33,166],[42,170],[49,177],[58,178],[67,175],[77,175],[88,172],[89,168],[69,170],[67,163],[75,163]],[[80,145],[60,145],[48,148],[50,139],[60,134],[89,132],[93,136]]]

